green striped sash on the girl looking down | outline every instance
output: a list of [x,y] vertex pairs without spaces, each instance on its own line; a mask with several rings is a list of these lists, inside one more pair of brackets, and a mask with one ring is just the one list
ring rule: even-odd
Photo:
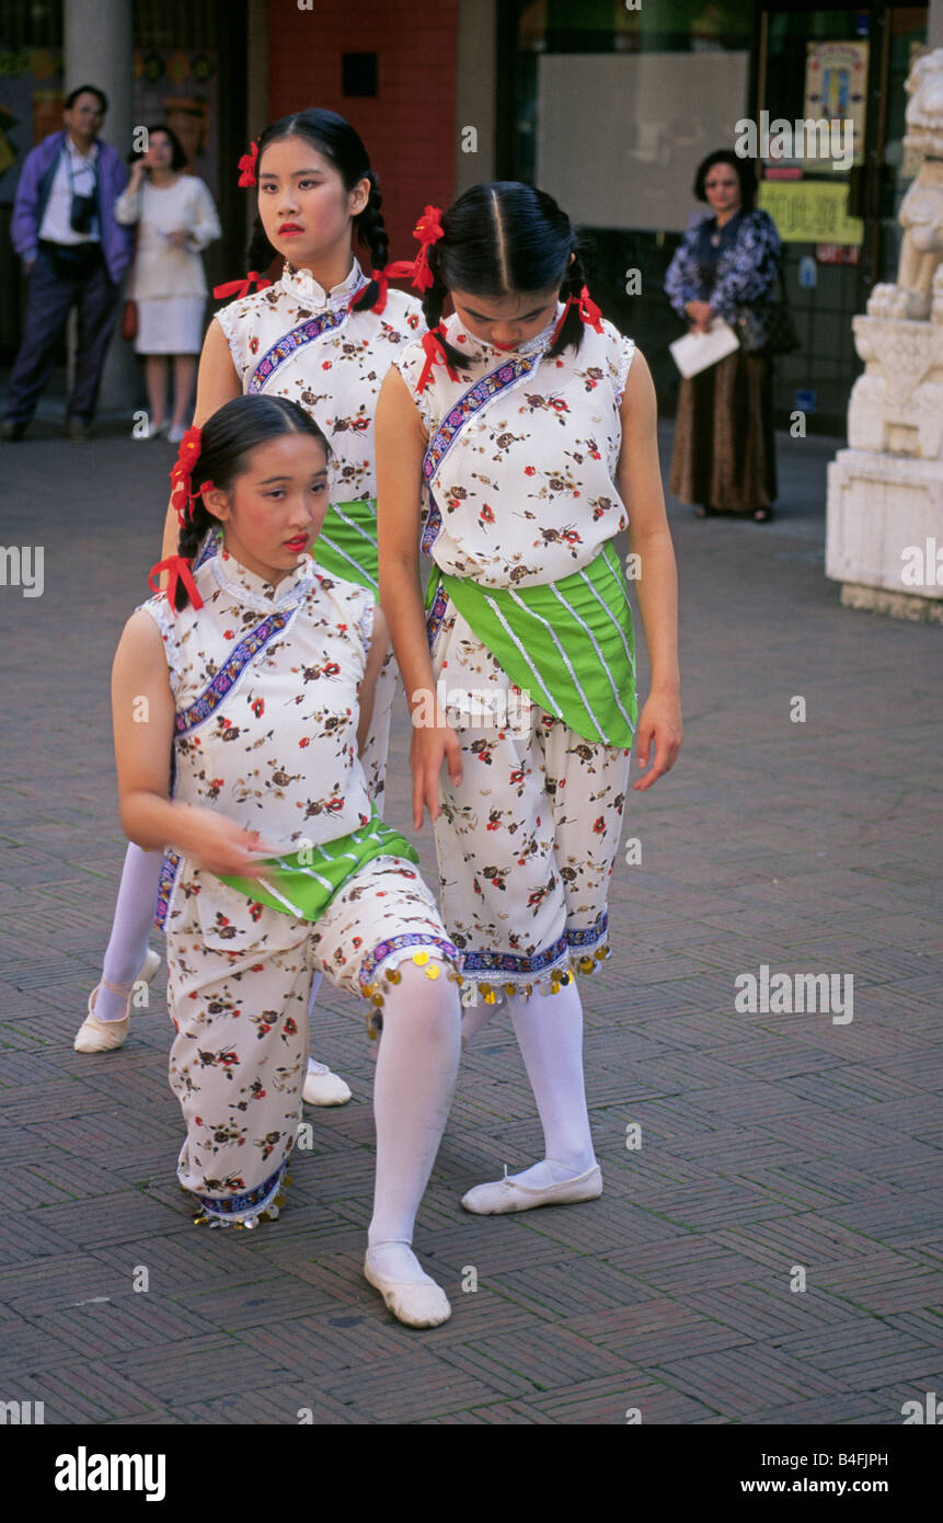
[[436,567],[425,599],[430,634],[440,585],[512,682],[545,713],[585,740],[632,745],[632,611],[611,541],[582,571],[542,586],[481,586]]

